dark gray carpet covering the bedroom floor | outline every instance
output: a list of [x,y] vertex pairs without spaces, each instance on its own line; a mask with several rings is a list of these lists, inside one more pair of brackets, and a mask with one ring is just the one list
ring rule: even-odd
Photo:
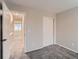
[[50,45],[39,50],[27,52],[26,54],[30,59],[78,59],[78,53],[59,45]]

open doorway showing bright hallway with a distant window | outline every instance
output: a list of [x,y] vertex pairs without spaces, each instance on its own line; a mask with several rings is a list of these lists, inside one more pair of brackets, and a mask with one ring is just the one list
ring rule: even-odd
[[24,14],[12,12],[13,20],[13,32],[10,33],[13,36],[12,48],[10,49],[10,58],[20,58],[24,53]]

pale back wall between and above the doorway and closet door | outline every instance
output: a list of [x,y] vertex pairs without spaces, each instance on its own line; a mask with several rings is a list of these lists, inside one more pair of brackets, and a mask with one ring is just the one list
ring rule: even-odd
[[[55,18],[55,15],[16,4],[7,4],[11,10],[24,12],[25,15],[25,50],[32,51],[43,46],[43,17]],[[55,38],[55,37],[54,37]],[[53,40],[52,40],[53,41]]]

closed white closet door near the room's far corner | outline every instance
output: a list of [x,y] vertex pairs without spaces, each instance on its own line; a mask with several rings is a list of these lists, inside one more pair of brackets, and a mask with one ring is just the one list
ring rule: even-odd
[[53,18],[43,18],[43,47],[53,44]]

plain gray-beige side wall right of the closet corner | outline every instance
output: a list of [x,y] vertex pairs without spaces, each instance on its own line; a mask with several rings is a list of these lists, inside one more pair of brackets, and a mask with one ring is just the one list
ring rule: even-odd
[[56,15],[56,43],[78,52],[77,7]]

